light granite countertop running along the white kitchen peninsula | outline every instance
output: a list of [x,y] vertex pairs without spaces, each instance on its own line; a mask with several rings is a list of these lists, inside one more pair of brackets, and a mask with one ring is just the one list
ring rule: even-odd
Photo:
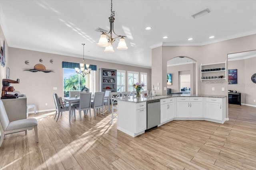
[[208,97],[208,98],[226,98],[226,96],[220,96],[220,95],[206,95],[206,94],[172,94],[172,95],[156,95],[156,96],[150,96],[150,97],[142,97],[137,98],[136,96],[130,96],[130,97],[120,97],[117,100],[122,100],[126,102],[147,102],[150,100],[158,100],[158,99],[164,99],[164,98],[173,98],[173,97]]

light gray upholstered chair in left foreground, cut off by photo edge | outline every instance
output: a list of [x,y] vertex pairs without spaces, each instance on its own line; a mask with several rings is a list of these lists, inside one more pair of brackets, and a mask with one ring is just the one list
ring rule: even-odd
[[0,147],[4,141],[4,137],[10,133],[17,133],[21,131],[25,131],[25,135],[27,135],[27,130],[34,129],[36,142],[38,143],[38,134],[37,134],[37,120],[34,118],[31,119],[20,119],[16,121],[9,121],[8,115],[4,108],[4,104],[2,100],[0,100]]

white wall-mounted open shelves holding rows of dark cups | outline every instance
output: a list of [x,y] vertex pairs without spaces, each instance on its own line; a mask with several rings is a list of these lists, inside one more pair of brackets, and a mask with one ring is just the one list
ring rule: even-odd
[[222,82],[227,81],[227,61],[221,63],[201,64],[200,65],[201,82]]

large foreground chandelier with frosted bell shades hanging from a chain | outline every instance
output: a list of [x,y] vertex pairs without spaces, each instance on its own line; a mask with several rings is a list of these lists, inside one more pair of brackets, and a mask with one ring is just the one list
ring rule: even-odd
[[[114,20],[115,20],[114,16],[115,16],[115,12],[112,11],[112,0],[111,0],[111,15],[108,18],[109,22],[110,22],[110,31],[108,33],[104,32],[104,31],[101,31],[102,34],[100,35],[99,42],[97,43],[97,45],[100,46],[100,47],[106,47],[105,50],[104,50],[104,52],[106,52],[106,53],[113,53],[114,52],[113,47],[112,47],[112,43],[116,40],[116,38],[119,38],[119,37],[121,37],[121,38],[119,40],[117,49],[119,49],[119,50],[128,49],[128,47],[126,46],[125,40],[124,40],[124,37],[126,37],[126,36],[117,35],[114,32]],[[112,38],[113,33],[117,37]],[[110,34],[110,35],[108,35],[108,34]],[[107,37],[108,37],[108,39],[107,39]]]

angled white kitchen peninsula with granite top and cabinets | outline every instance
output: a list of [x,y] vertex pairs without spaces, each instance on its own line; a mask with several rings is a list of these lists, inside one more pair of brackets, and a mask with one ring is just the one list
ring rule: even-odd
[[[226,96],[180,94],[152,97],[121,97],[118,99],[117,129],[136,137],[148,129],[148,103],[160,101],[160,116],[157,126],[172,120],[206,120],[224,123],[226,118]],[[159,114],[159,115],[158,115]],[[154,117],[154,119],[158,119]]]

